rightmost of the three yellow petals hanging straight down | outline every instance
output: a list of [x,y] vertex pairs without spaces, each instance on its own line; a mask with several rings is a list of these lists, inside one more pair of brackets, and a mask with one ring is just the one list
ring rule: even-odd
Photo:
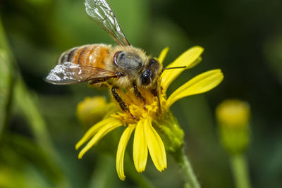
[[164,149],[164,143],[157,131],[152,127],[152,120],[149,118],[145,119],[144,125],[147,145],[152,161],[157,170],[162,171],[166,168],[166,149]]

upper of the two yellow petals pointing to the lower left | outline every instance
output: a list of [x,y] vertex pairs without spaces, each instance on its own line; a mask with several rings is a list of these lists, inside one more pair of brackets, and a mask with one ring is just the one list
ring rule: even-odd
[[106,119],[100,121],[99,123],[96,123],[89,130],[87,130],[87,132],[84,134],[82,139],[80,139],[78,144],[75,145],[75,149],[80,148],[80,146],[82,146],[82,144],[87,142],[87,140],[90,139],[94,134],[96,134],[96,132],[98,132],[98,130],[100,130],[102,127],[104,127],[106,125],[113,124],[113,123],[117,123],[117,122],[120,123],[120,121],[117,120],[116,118],[106,118]]

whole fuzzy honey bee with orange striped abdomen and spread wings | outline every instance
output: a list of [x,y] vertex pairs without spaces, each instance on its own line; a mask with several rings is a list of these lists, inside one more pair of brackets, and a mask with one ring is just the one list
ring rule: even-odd
[[117,46],[89,44],[69,49],[59,57],[57,65],[46,77],[51,84],[75,84],[89,81],[101,84],[112,80],[111,94],[123,111],[128,106],[116,89],[133,87],[135,95],[144,101],[138,88],[151,89],[159,97],[157,77],[162,65],[156,58],[130,46],[116,16],[106,0],[85,0],[87,15],[97,22],[117,42]]

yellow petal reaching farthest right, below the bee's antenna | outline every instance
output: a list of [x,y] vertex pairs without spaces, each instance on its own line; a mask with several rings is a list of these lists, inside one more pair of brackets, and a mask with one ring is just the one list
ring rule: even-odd
[[166,101],[166,108],[179,99],[193,94],[201,94],[216,87],[223,80],[220,69],[209,70],[205,73],[193,77],[191,80],[176,89]]

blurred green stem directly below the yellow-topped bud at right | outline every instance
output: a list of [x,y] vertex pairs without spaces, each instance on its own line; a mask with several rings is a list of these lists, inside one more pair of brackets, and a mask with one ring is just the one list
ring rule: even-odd
[[231,169],[237,188],[250,188],[247,161],[242,154],[231,156]]

